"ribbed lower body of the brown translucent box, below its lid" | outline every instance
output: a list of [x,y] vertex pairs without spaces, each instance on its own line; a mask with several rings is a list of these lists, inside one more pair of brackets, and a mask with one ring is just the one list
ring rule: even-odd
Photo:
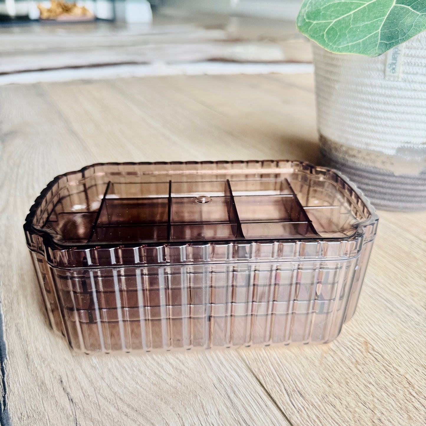
[[69,271],[34,257],[53,328],[77,351],[109,353],[330,342],[357,303],[369,250],[361,253]]

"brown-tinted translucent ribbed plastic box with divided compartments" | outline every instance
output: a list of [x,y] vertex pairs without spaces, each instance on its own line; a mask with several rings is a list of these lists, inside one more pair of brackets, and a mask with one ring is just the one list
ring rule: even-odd
[[109,353],[330,342],[377,221],[307,163],[126,163],[58,176],[24,229],[52,328]]

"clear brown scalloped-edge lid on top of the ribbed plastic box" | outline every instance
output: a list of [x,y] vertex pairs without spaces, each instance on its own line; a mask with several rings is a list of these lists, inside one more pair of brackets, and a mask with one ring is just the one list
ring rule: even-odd
[[87,267],[342,258],[359,252],[376,222],[333,170],[204,161],[94,164],[60,175],[24,229],[29,248],[52,264]]

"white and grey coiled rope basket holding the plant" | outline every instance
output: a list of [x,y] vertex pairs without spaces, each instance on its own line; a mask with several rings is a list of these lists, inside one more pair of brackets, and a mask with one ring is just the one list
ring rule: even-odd
[[426,208],[426,32],[377,58],[314,45],[314,64],[326,161],[377,207]]

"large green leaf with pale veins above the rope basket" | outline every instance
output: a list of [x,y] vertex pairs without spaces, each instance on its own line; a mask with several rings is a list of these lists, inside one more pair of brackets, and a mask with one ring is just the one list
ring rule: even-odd
[[378,56],[426,30],[426,0],[304,0],[296,26],[330,52]]

